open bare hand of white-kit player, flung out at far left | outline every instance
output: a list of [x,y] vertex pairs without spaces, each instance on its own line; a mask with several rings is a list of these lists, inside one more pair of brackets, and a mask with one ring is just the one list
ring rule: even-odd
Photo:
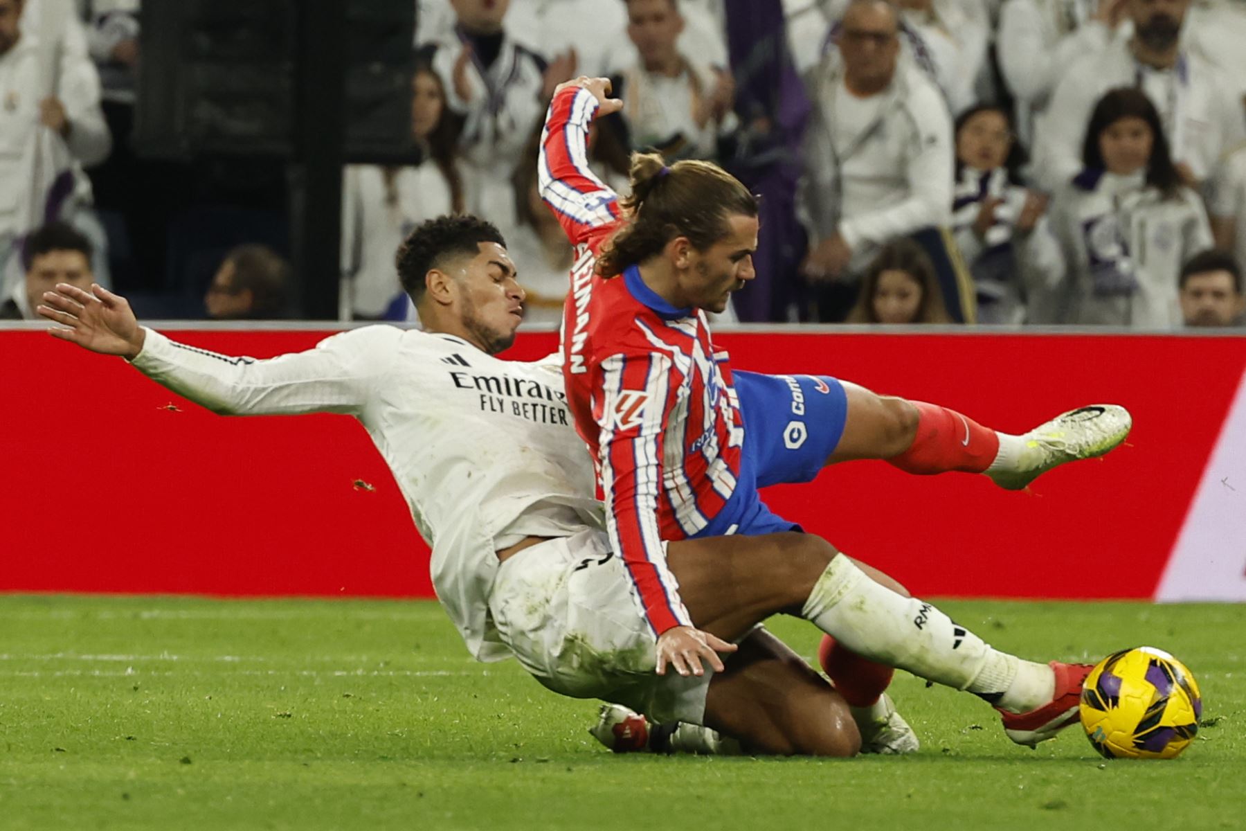
[[44,293],[36,311],[61,324],[49,334],[90,349],[101,355],[133,359],[142,351],[143,330],[126,298],[102,285],[83,292],[76,285],[59,283],[55,292]]

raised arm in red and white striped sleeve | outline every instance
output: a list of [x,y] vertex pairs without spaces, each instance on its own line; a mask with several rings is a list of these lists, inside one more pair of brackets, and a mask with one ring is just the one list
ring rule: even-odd
[[541,135],[541,198],[572,244],[613,228],[621,216],[618,194],[588,168],[588,126],[596,116],[623,107],[622,101],[609,97],[609,78],[581,76],[559,83]]

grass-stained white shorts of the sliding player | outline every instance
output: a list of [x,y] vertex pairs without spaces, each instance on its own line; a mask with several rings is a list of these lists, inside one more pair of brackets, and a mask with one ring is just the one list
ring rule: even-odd
[[657,638],[604,532],[581,531],[508,558],[488,608],[503,643],[553,691],[623,704],[655,721],[703,723],[713,670],[654,672]]

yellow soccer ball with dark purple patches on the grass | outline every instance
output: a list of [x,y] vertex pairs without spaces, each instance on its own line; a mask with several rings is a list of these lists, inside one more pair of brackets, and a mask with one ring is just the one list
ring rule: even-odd
[[1087,738],[1108,759],[1172,759],[1199,731],[1202,696],[1181,662],[1138,647],[1090,670],[1080,710]]

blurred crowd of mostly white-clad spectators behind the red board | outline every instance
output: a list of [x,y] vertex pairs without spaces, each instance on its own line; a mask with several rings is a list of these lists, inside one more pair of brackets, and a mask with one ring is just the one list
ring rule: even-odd
[[[589,164],[718,162],[763,196],[743,321],[1241,326],[1246,0],[419,0],[411,163],[343,178],[341,319],[407,319],[394,252],[470,212],[527,318],[571,250],[553,87],[613,78]],[[148,316],[297,314],[280,176],[130,143],[140,0],[0,0],[2,316],[47,282]]]

